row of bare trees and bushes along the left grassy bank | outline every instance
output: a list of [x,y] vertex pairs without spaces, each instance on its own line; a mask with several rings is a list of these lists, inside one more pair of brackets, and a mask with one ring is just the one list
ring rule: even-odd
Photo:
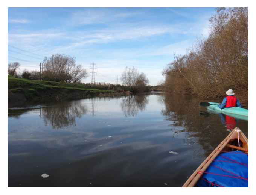
[[[75,58],[69,55],[54,54],[49,58],[44,59],[44,71],[28,71],[24,70],[21,74],[18,73],[20,63],[8,63],[8,74],[14,77],[26,78],[31,80],[46,80],[65,83],[81,83],[82,79],[88,77],[88,72],[81,65],[76,64]],[[105,86],[107,89],[129,90],[134,93],[145,92],[149,90],[149,83],[146,74],[139,73],[138,69],[126,67],[122,73],[121,85]],[[86,84],[87,87],[97,88],[95,84]],[[103,86],[104,87],[104,86]]]

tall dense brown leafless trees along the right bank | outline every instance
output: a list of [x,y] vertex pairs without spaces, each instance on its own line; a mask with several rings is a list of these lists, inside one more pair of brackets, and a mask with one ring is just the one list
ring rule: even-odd
[[233,89],[248,101],[248,8],[218,8],[209,21],[209,37],[175,55],[163,71],[163,86],[202,98],[222,98]]

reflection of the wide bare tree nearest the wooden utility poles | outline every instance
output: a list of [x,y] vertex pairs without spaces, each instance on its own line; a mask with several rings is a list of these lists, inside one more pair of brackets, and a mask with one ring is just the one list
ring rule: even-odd
[[40,117],[46,125],[50,123],[53,129],[63,129],[75,125],[75,119],[87,113],[86,105],[80,101],[60,102],[54,107],[40,108]]

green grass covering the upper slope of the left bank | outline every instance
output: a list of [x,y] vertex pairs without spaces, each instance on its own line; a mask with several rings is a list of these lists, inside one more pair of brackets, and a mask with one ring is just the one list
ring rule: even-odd
[[83,90],[92,93],[114,93],[113,90],[88,89],[85,88],[84,84],[29,80],[24,78],[15,78],[10,75],[8,75],[8,89],[10,89],[13,93],[36,93],[38,91],[40,92],[58,89],[66,89],[70,92],[73,90]]

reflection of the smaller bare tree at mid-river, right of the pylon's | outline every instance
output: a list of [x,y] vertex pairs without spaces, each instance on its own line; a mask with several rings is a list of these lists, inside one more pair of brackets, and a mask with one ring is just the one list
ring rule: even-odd
[[148,104],[148,95],[125,96],[121,102],[121,109],[126,117],[134,117],[139,111],[143,111]]

